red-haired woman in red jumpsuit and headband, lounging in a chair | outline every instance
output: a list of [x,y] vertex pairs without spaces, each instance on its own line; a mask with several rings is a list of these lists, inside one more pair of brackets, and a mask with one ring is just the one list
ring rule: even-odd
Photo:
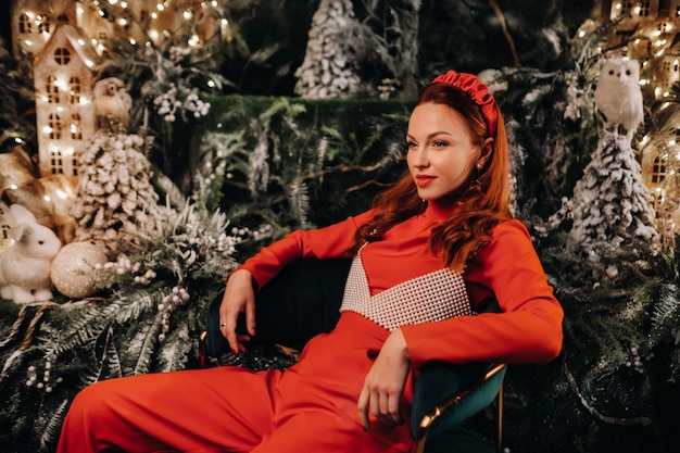
[[[507,138],[487,87],[453,71],[437,77],[406,142],[408,174],[374,209],[294,231],[228,278],[221,328],[241,352],[255,335],[254,287],[302,257],[354,255],[337,327],[298,364],[96,383],[74,400],[58,451],[408,452],[413,379],[428,361],[555,358],[563,311],[512,218]],[[503,313],[473,313],[493,303]]]

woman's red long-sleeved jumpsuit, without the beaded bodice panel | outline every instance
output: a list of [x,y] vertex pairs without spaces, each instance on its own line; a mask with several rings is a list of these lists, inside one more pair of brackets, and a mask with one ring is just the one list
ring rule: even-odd
[[[364,248],[372,294],[442,267],[427,238],[446,214],[428,207]],[[294,260],[343,256],[370,215],[294,231],[242,267],[262,287]],[[559,353],[563,311],[519,222],[494,227],[464,277],[474,310],[495,299],[504,313],[402,326],[414,373],[430,360],[545,363]],[[286,372],[217,367],[95,383],[74,399],[58,453],[408,452],[408,424],[388,427],[373,419],[365,432],[358,420],[356,403],[373,364],[366,352],[379,349],[388,335],[364,316],[343,312],[336,329],[310,341]],[[414,373],[404,389],[404,417]]]

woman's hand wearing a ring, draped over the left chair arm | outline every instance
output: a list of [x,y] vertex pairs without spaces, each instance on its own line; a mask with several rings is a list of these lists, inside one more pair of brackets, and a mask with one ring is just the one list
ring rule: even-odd
[[[236,331],[241,313],[245,315],[245,329],[249,335],[239,335]],[[249,270],[236,270],[227,280],[227,288],[219,305],[219,331],[235,354],[245,351],[242,342],[255,336],[255,291]]]

